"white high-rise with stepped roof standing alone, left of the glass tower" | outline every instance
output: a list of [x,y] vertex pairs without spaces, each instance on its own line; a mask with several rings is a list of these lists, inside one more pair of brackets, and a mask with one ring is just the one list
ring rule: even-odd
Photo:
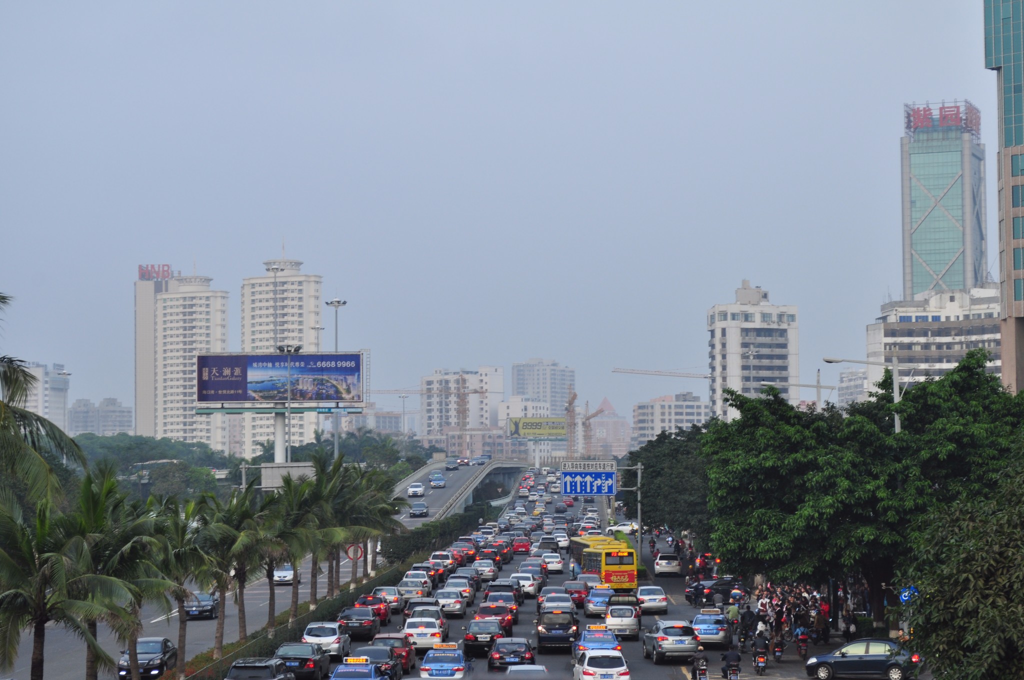
[[[771,304],[768,291],[751,288],[744,280],[736,301],[708,310],[708,367],[711,369],[711,406],[729,420],[737,414],[726,408],[723,390],[753,396],[761,383],[799,383],[800,345],[796,305]],[[790,403],[800,401],[799,390],[779,387]]]

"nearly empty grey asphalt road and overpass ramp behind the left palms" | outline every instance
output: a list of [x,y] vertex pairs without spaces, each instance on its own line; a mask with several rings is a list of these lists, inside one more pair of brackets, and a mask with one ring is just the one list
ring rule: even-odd
[[[424,521],[433,518],[435,510],[439,510],[444,503],[446,503],[454,494],[456,494],[465,484],[466,480],[471,476],[471,474],[476,471],[476,468],[460,468],[458,471],[452,470],[444,472],[444,476],[447,479],[447,485],[444,488],[429,488],[427,483],[427,478],[429,473],[425,472],[420,477],[416,478],[416,481],[422,481],[425,486],[427,486],[427,495],[423,500],[426,501],[430,508],[430,516],[424,517],[409,517],[408,510],[400,513],[398,518],[409,527],[416,527],[422,524]],[[411,499],[412,501],[419,501],[421,499]],[[323,568],[324,565],[322,564]],[[362,573],[361,560],[358,565],[359,573]],[[309,599],[309,572],[308,565],[300,566],[302,573],[302,585],[299,588],[299,599],[300,601],[306,601]],[[351,575],[351,563],[348,560],[344,560],[341,565],[342,579],[347,579]],[[322,575],[319,579],[318,591],[321,597],[325,593],[327,587],[326,576]],[[279,586],[275,588],[274,595],[274,610],[275,612],[285,611],[291,606],[292,590],[287,586]],[[245,591],[246,595],[246,619],[248,622],[248,628],[250,632],[261,628],[267,620],[267,607],[269,606],[269,586],[265,579],[262,579],[256,583],[249,585]],[[224,642],[233,642],[239,639],[239,618],[238,610],[234,604],[234,593],[231,592],[227,597],[227,602],[223,603],[221,607],[222,615],[224,619]],[[142,623],[143,623],[143,633],[140,637],[166,637],[171,640],[174,644],[178,641],[178,621],[177,612],[172,611],[168,613],[162,610],[160,607],[146,604],[142,608]],[[217,622],[215,620],[191,620],[188,622],[188,636],[187,643],[184,653],[178,652],[179,660],[187,660],[191,656],[209,649],[213,646],[213,640],[216,632]],[[99,641],[103,646],[103,649],[108,651],[112,656],[117,660],[120,656],[120,649],[123,647],[118,643],[117,639],[110,632],[110,630],[103,626],[99,626],[98,632]],[[22,634],[22,641],[18,645],[17,662],[14,665],[13,670],[4,674],[4,677],[13,678],[14,680],[22,680],[23,678],[29,677],[29,669],[32,661],[32,632],[25,631]],[[69,632],[62,627],[50,625],[47,627],[46,631],[46,648],[45,648],[45,661],[44,661],[44,673],[47,680],[78,680],[82,677],[83,669],[85,668],[85,644],[73,633]],[[102,675],[102,674],[101,674]],[[115,674],[105,674],[105,677],[114,678]]]

